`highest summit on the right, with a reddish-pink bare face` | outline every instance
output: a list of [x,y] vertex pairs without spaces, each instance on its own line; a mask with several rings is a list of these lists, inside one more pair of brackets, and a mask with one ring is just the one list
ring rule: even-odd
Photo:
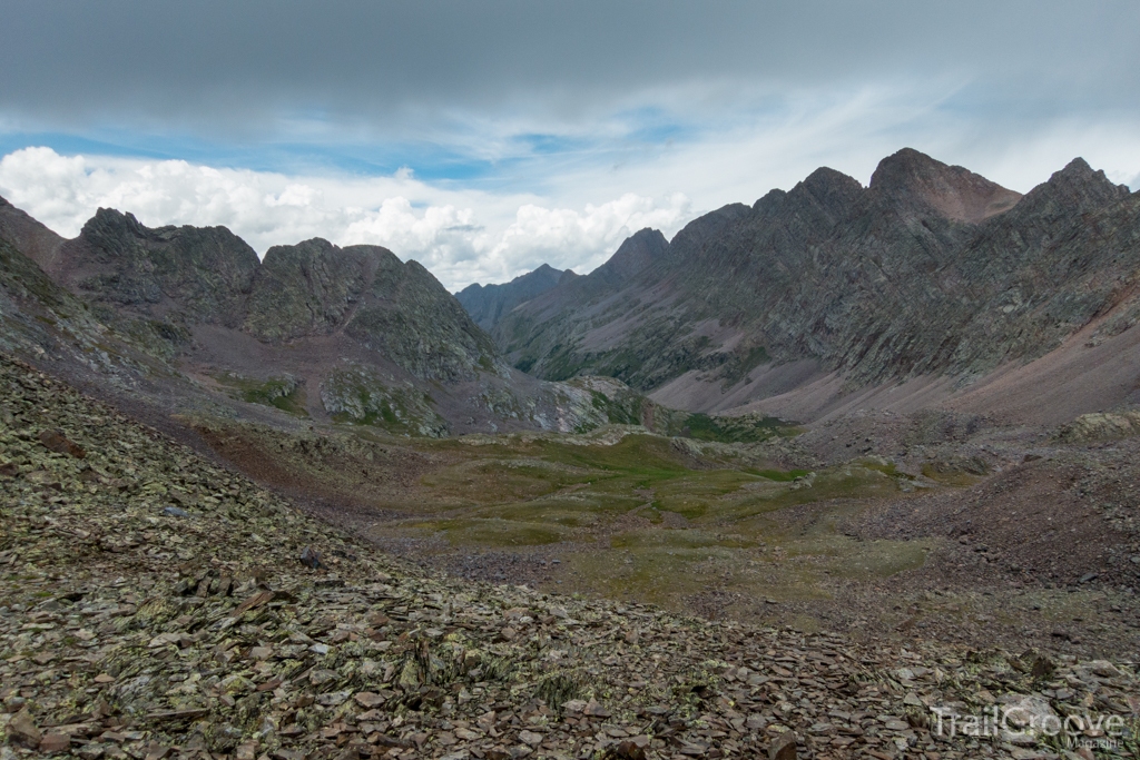
[[1009,211],[1021,199],[1019,193],[913,148],[903,148],[879,162],[870,191],[880,203],[903,213],[935,213],[975,224]]

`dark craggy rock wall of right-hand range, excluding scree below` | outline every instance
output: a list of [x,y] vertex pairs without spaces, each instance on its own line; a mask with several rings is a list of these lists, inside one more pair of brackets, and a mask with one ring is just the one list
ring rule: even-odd
[[539,377],[642,390],[693,369],[732,385],[799,359],[854,384],[972,376],[1040,357],[1117,305],[1138,239],[1140,196],[1082,160],[1021,198],[907,149],[868,188],[821,169],[712,212],[620,287],[576,300],[559,286],[495,336]]

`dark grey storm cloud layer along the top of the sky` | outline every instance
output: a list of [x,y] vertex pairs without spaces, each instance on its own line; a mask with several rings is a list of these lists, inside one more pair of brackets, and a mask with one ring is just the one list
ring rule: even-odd
[[[0,2],[0,117],[368,129],[629,93],[960,77],[962,107],[1131,109],[1140,3]],[[723,87],[722,87],[723,91]],[[731,87],[728,88],[731,92]],[[437,122],[438,123],[438,122]]]

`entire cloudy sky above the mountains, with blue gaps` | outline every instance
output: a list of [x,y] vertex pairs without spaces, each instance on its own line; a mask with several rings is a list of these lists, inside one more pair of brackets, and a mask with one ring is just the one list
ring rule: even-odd
[[586,272],[903,147],[1140,189],[1134,0],[0,0],[0,195],[325,237],[448,288]]

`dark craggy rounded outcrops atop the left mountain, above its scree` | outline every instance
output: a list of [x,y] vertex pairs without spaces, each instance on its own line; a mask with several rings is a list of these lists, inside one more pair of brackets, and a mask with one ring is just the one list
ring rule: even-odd
[[[263,262],[223,227],[148,229],[100,209],[48,262],[49,273],[108,319],[141,320],[188,342],[196,325],[280,344],[344,334],[423,379],[494,370],[494,345],[418,263],[380,246],[311,239]],[[112,312],[114,310],[114,312]]]

